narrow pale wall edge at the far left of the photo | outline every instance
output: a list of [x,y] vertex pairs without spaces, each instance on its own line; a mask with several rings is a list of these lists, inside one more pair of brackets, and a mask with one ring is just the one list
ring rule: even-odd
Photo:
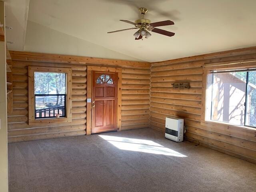
[[[4,2],[0,1],[0,21],[4,24]],[[0,41],[0,192],[8,192],[6,54],[5,42]]]

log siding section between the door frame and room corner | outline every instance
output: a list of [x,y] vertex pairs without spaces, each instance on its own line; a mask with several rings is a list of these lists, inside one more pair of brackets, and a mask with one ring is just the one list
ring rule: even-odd
[[122,130],[149,127],[150,67],[122,69]]

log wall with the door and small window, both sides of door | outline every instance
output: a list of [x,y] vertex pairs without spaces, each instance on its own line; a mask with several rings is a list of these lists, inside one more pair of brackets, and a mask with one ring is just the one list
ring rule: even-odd
[[[73,62],[27,61],[19,53],[12,53],[13,112],[8,114],[8,142],[86,134],[86,69],[87,64]],[[26,53],[30,54],[30,53]],[[47,55],[48,56],[48,55]],[[19,60],[15,60],[19,59]],[[20,60],[22,59],[22,60]],[[70,59],[70,58],[69,58]],[[42,58],[41,60],[44,60]],[[88,60],[88,59],[87,59]],[[98,60],[97,60],[98,61]],[[102,60],[99,60],[102,62]],[[129,130],[149,127],[150,63],[114,62],[106,60],[100,66],[122,67],[122,128]],[[90,64],[92,65],[92,64]],[[49,126],[28,125],[28,66],[72,68],[72,123]]]

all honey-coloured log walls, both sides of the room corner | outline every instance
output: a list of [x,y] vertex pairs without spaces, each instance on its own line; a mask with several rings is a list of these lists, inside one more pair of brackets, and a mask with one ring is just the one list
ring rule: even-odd
[[[202,65],[255,59],[255,47],[152,64],[29,52],[11,55],[14,110],[8,114],[9,142],[86,134],[86,68],[90,63],[122,67],[122,130],[150,126],[164,131],[167,116],[182,117],[186,140],[198,140],[202,146],[256,163],[255,129],[201,123]],[[72,68],[72,124],[28,125],[28,66]],[[191,88],[174,90],[171,84],[176,81],[190,82]]]

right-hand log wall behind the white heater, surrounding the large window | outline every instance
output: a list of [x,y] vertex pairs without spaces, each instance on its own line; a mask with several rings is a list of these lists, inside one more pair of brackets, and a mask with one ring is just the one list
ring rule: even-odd
[[[256,49],[208,54],[152,63],[150,127],[165,130],[167,116],[185,119],[186,140],[256,163],[256,130],[201,124],[202,65],[256,58]],[[188,90],[175,90],[175,81],[190,82]]]

